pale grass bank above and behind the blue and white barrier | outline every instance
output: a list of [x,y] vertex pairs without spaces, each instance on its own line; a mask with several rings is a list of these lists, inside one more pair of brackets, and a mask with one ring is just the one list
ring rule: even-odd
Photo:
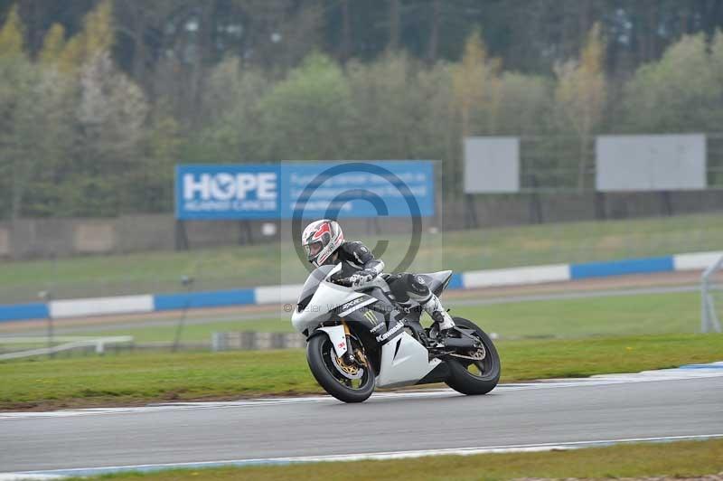
[[[409,270],[463,271],[719,250],[723,245],[719,221],[719,214],[681,215],[425,234]],[[362,241],[373,246],[377,239],[362,236]],[[407,236],[390,237],[383,256],[390,268],[402,259],[407,246]],[[178,280],[183,275],[197,278],[195,289],[203,290],[300,282],[305,269],[286,243],[5,261],[0,269],[0,302],[34,300],[38,291],[48,288],[57,298],[174,291],[181,289]]]

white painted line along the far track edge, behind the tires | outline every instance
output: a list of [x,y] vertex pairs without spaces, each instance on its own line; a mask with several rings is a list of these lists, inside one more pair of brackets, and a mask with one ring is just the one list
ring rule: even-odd
[[[586,386],[603,386],[612,384],[626,384],[631,382],[681,381],[723,376],[723,362],[709,364],[689,364],[675,369],[661,369],[657,371],[643,371],[642,373],[600,374],[581,379],[551,379],[540,382],[517,382],[500,384],[493,393],[505,391],[527,391],[536,389],[558,389]],[[371,401],[389,399],[425,399],[445,398],[459,396],[450,389],[377,392],[372,395]],[[82,410],[52,410],[45,412],[0,412],[0,421],[26,420],[37,418],[67,418],[74,416],[93,416],[103,414],[133,414],[140,412],[158,412],[170,410],[200,410],[200,409],[230,409],[249,407],[268,407],[286,404],[308,404],[316,402],[335,403],[331,396],[308,396],[300,398],[270,398],[241,401],[204,401],[204,402],[173,402],[163,404],[150,404],[140,407],[126,408],[90,408]],[[0,479],[0,481],[3,481]]]

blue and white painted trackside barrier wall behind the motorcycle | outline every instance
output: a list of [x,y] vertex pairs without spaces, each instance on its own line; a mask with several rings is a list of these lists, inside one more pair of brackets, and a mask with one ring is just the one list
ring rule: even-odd
[[[497,288],[627,274],[707,269],[723,251],[694,252],[649,259],[624,259],[582,264],[553,264],[455,273],[450,289]],[[183,308],[283,304],[296,301],[301,284],[141,296],[54,300],[47,304],[0,306],[0,322],[27,319],[140,314]]]

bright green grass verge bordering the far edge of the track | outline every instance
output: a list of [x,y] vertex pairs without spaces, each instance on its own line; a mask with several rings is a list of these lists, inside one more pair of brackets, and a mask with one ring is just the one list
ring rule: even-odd
[[[498,343],[502,381],[634,373],[720,361],[723,335]],[[303,350],[119,354],[0,363],[0,409],[320,392]]]

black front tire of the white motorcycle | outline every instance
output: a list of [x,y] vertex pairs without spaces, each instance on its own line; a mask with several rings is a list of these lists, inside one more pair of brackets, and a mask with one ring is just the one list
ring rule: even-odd
[[[332,363],[331,356],[336,356],[333,344],[326,335],[315,335],[306,344],[306,362],[324,391],[343,402],[362,402],[369,399],[374,391],[374,371],[369,365],[364,368],[359,387],[344,385],[343,376],[338,373]],[[341,381],[340,381],[341,380]]]

